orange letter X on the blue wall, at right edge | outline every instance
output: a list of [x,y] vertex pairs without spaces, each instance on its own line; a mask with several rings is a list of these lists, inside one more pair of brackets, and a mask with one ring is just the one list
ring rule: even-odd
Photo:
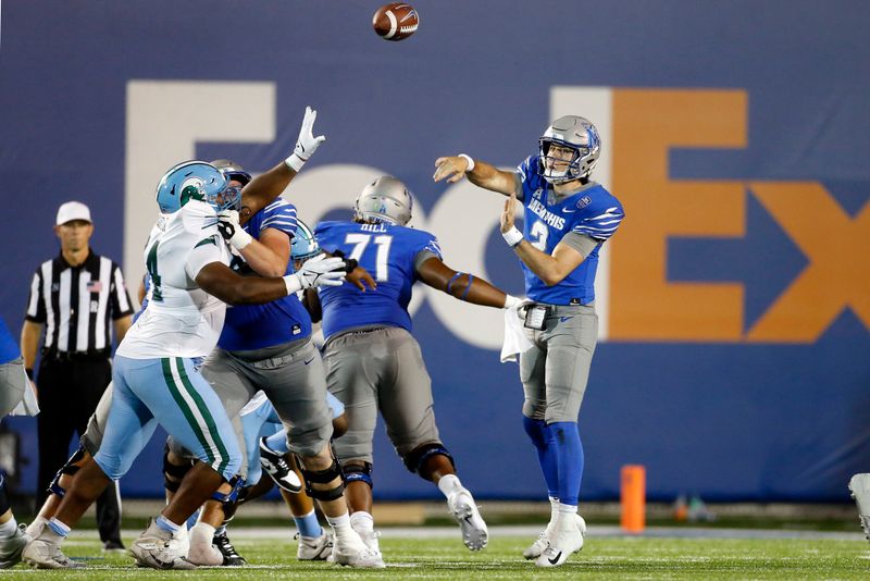
[[818,183],[751,183],[809,264],[749,331],[755,343],[813,343],[852,307],[870,329],[870,205],[855,220]]

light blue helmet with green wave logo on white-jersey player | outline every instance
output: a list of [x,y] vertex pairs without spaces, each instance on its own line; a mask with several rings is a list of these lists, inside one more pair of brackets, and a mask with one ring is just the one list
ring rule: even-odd
[[224,174],[204,161],[185,161],[167,171],[157,185],[161,213],[177,212],[190,200],[210,203],[215,210],[227,209],[228,182]]

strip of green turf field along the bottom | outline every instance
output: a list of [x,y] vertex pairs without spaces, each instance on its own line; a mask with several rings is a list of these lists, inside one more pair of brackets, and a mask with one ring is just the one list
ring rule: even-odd
[[[136,569],[124,555],[103,556],[96,542],[74,542],[66,553],[88,569],[35,571],[18,565],[3,579],[34,574],[53,579],[868,579],[870,546],[852,540],[732,540],[595,537],[563,567],[538,569],[520,553],[526,537],[497,537],[481,553],[470,553],[455,539],[382,539],[386,570],[351,570],[295,559],[293,541],[240,539],[247,568],[198,571]],[[45,576],[45,577],[44,577]]]

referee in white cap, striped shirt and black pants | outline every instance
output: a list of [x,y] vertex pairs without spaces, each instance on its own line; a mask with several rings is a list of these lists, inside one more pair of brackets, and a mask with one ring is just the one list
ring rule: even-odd
[[[90,250],[90,210],[78,201],[58,209],[54,233],[61,252],[42,262],[30,283],[21,348],[33,378],[36,351],[45,327],[39,372],[39,480],[37,506],[48,495],[54,473],[66,462],[70,440],[80,436],[112,380],[110,356],[115,338],[124,338],[133,312],[121,269]],[[117,484],[97,500],[100,540],[107,551],[123,549]]]

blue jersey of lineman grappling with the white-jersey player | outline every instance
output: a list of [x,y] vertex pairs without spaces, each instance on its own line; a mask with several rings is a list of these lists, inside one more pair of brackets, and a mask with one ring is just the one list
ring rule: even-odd
[[[296,235],[296,207],[278,198],[245,224],[245,231],[259,239],[265,228],[284,232],[291,239]],[[245,265],[241,257],[234,257],[231,267]],[[293,273],[293,261],[286,274]],[[228,351],[245,351],[274,347],[311,334],[311,317],[295,294],[265,305],[245,305],[226,309],[226,321],[217,346]]]

